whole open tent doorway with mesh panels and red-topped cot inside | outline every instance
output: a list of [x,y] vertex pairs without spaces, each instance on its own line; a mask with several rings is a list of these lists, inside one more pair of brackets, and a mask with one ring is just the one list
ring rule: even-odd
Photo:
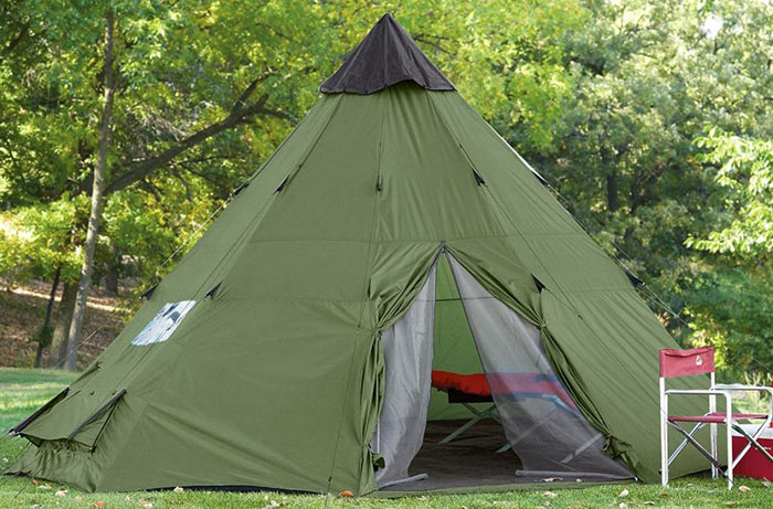
[[382,332],[383,405],[371,442],[381,490],[633,477],[557,378],[539,329],[441,252]]

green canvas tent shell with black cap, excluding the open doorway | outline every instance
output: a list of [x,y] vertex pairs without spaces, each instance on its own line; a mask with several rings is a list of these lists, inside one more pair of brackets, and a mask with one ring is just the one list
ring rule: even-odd
[[[655,481],[657,350],[676,343],[625,273],[393,18],[320,89],[94,365],[17,426],[33,447],[11,471],[374,490],[381,332],[443,246],[540,329],[607,453]],[[701,468],[684,455],[671,471]]]

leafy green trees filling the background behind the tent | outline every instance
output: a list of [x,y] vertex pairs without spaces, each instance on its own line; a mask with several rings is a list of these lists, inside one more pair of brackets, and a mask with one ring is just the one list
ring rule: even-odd
[[716,344],[733,375],[770,373],[765,0],[9,0],[0,10],[0,275],[62,290],[32,338],[51,365],[78,329],[95,170],[89,279],[117,291],[131,278],[139,294],[391,11],[645,282],[639,291],[682,344]]

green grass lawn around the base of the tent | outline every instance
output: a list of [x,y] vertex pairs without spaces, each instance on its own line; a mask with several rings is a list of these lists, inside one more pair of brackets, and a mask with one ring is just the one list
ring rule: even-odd
[[[59,371],[0,368],[0,427],[8,430],[55,395],[76,375]],[[0,438],[0,462],[8,465],[25,441]],[[653,444],[657,446],[657,444]],[[131,494],[81,494],[54,483],[29,478],[0,477],[0,508],[23,507],[256,507],[256,508],[635,508],[635,507],[753,507],[773,508],[770,484],[739,479],[727,490],[722,480],[707,476],[677,479],[671,487],[658,485],[595,486],[554,489],[550,484],[528,491],[484,495],[428,495],[400,499],[341,499],[335,496],[286,495],[278,492],[152,491]],[[626,494],[627,491],[627,494]],[[103,502],[103,503],[99,503]],[[104,506],[103,506],[104,505]]]

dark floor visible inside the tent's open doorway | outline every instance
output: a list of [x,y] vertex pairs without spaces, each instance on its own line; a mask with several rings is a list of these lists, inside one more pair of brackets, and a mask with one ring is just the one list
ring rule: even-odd
[[512,450],[496,453],[507,439],[501,424],[494,420],[480,421],[448,444],[438,443],[465,422],[430,421],[424,444],[409,469],[412,476],[427,474],[430,477],[393,485],[381,491],[425,491],[534,481],[533,478],[516,477],[521,464]]

